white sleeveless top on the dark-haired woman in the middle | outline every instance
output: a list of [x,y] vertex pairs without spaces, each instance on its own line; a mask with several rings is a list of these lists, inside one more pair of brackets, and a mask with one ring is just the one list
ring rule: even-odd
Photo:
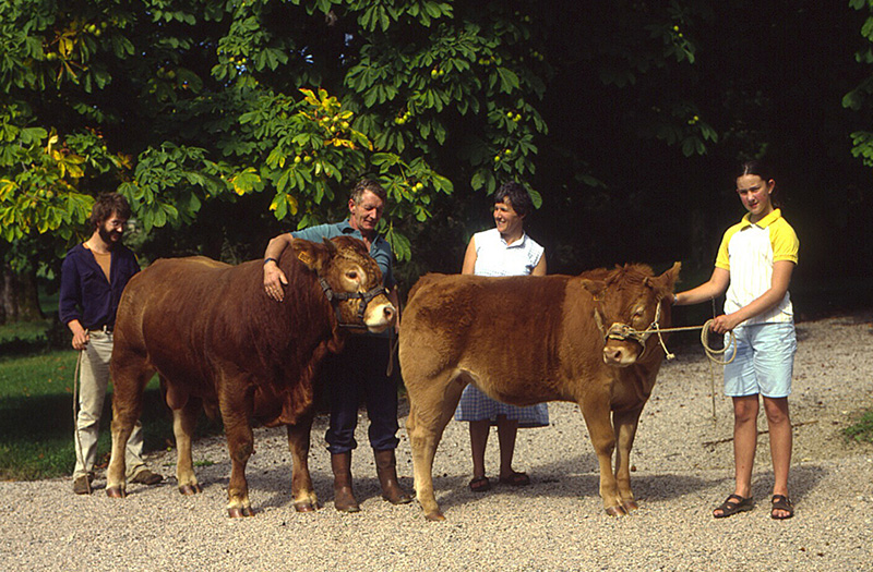
[[500,235],[498,229],[474,234],[476,245],[476,276],[526,276],[542,258],[543,248],[527,234],[512,244]]

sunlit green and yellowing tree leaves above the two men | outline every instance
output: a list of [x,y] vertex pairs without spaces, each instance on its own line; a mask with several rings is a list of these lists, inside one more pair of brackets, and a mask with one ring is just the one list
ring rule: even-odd
[[[625,34],[593,37],[579,56],[602,59],[600,81],[618,86],[693,63],[679,26],[696,4],[612,7],[608,14],[629,15]],[[517,179],[541,202],[531,183],[554,72],[543,54],[572,5],[3,2],[3,238],[69,240],[92,197],[115,188],[146,232],[179,230],[205,203],[249,194],[267,195],[276,219],[307,226],[335,216],[345,190],[371,174],[390,194],[388,238],[408,258],[403,229],[428,220],[455,185],[491,193]],[[687,101],[655,109],[639,131],[685,155],[716,141]]]

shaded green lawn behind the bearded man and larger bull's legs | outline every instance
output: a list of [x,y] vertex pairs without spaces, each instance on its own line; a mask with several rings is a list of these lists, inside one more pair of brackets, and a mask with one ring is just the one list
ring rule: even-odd
[[[76,353],[48,349],[45,329],[41,322],[0,327],[0,480],[50,478],[73,470]],[[111,401],[110,387],[100,417],[98,464],[108,461],[111,446]],[[141,418],[146,451],[172,446],[172,416],[157,378],[146,387]],[[199,435],[219,430],[202,416]]]

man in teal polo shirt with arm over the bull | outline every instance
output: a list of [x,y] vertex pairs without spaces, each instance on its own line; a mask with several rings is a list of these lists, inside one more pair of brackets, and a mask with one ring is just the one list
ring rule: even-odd
[[[285,248],[294,239],[321,242],[322,239],[348,235],[367,244],[379,269],[382,283],[388,291],[394,307],[399,308],[397,283],[392,272],[394,256],[391,245],[376,232],[387,196],[375,181],[362,180],[351,191],[348,200],[348,219],[310,227],[296,232],[279,234],[270,241],[264,252],[264,289],[267,295],[282,302],[285,273],[278,267]],[[325,361],[322,375],[328,379],[331,400],[331,426],[327,429],[327,450],[334,472],[334,506],[343,512],[360,510],[351,486],[351,451],[357,447],[355,427],[358,423],[358,405],[361,397],[367,403],[370,418],[369,438],[375,455],[376,474],[382,485],[382,497],[394,503],[409,502],[411,496],[397,483],[397,387],[385,372],[388,358],[388,339],[378,334],[350,336],[340,358]]]

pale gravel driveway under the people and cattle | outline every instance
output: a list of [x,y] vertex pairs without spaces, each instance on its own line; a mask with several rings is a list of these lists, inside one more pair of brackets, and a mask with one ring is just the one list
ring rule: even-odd
[[[316,419],[310,466],[325,508],[297,514],[289,497],[290,455],[284,430],[259,429],[249,463],[251,519],[225,516],[230,473],[223,439],[194,446],[204,491],[182,497],[175,478],[132,485],[118,500],[98,490],[73,495],[69,478],[0,483],[0,562],[7,570],[871,570],[873,446],[847,445],[839,428],[873,406],[873,316],[858,314],[798,325],[790,398],[794,459],[790,487],[797,513],[769,518],[768,439],[760,437],[753,511],[714,520],[731,492],[730,402],[713,418],[709,365],[694,346],[671,348],[643,412],[632,463],[641,509],[613,519],[598,496],[597,461],[573,404],[550,404],[551,426],[518,434],[516,468],[526,488],[495,486],[474,495],[466,424],[446,428],[434,467],[436,499],[447,518],[426,522],[416,503],[379,496],[372,454],[361,447],[354,474],[362,512],[339,514]],[[362,413],[358,441],[366,439]],[[400,419],[399,474],[411,488],[409,443]],[[766,430],[761,418],[758,427]],[[150,458],[175,473],[175,453]],[[497,438],[488,450],[498,466]]]

